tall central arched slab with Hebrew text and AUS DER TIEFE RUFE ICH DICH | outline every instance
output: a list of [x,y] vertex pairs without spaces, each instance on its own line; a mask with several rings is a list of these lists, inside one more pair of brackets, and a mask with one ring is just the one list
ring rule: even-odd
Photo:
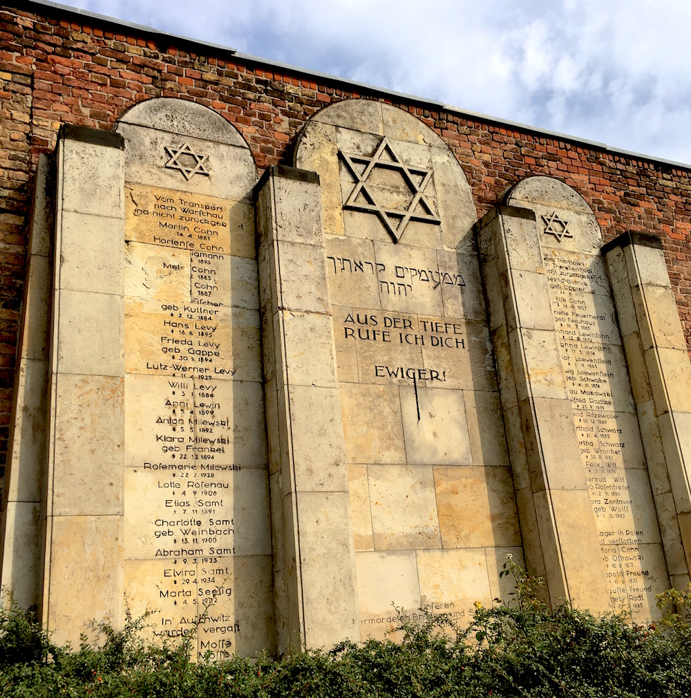
[[360,637],[392,602],[463,620],[521,556],[470,187],[421,121],[366,101],[315,114],[295,164],[320,177]]

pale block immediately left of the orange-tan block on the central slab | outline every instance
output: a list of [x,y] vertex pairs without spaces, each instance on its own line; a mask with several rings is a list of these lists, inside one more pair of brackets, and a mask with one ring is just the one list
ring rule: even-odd
[[369,466],[367,473],[375,549],[440,548],[432,468]]

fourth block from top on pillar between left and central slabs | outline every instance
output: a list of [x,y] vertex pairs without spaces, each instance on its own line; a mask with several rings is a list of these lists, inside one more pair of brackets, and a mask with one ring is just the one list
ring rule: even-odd
[[302,491],[347,492],[338,389],[291,385],[290,436],[294,482]]

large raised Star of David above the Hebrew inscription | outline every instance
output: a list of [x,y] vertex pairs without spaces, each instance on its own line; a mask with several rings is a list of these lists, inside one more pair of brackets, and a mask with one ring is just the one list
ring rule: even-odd
[[[345,166],[350,171],[353,179],[355,179],[355,186],[352,188],[348,200],[343,204],[344,209],[376,214],[388,230],[389,235],[394,239],[394,242],[399,242],[403,231],[406,230],[406,226],[410,221],[440,223],[439,218],[424,196],[424,190],[432,177],[432,170],[416,168],[403,163],[386,136],[382,138],[371,156],[346,154],[341,151],[339,151],[339,155],[343,158]],[[365,165],[362,172],[359,171],[362,167],[358,167],[358,165]],[[413,195],[408,208],[387,208],[376,202],[375,197],[367,186],[367,179],[375,168],[386,168],[387,170],[395,170],[401,173],[409,193]],[[361,195],[364,201],[357,201],[357,198]],[[416,210],[418,207],[422,210]]]

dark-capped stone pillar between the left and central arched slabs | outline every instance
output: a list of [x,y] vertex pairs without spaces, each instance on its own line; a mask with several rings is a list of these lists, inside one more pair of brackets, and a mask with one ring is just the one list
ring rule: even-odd
[[358,604],[319,178],[274,167],[256,191],[282,652],[359,639]]

